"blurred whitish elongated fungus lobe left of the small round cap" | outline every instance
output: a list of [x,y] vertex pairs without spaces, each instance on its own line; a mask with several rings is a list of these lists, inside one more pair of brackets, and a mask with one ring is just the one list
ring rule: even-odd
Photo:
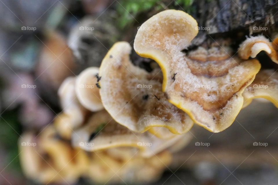
[[71,137],[73,129],[82,125],[87,113],[86,109],[78,101],[75,83],[75,77],[68,77],[58,90],[63,112],[55,118],[54,125],[58,133],[67,139]]

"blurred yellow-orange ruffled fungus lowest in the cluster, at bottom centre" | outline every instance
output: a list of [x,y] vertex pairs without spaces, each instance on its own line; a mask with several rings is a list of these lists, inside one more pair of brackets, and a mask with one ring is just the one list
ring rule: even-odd
[[[91,153],[86,176],[96,183],[143,183],[159,178],[170,164],[172,156],[168,151],[158,153],[150,158],[130,156],[127,159],[115,158],[106,151]],[[101,160],[100,160],[101,159]]]

